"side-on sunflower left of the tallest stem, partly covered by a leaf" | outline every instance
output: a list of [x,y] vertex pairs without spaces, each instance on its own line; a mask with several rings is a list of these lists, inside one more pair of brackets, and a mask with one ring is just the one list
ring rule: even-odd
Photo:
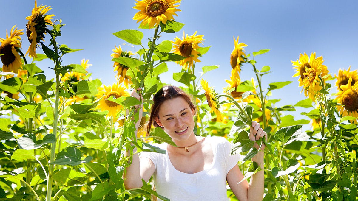
[[[116,46],[116,49],[112,49],[114,53],[111,54],[111,57],[113,58],[118,58],[118,57],[127,57],[130,58],[131,55],[134,55],[131,51],[127,52],[127,51],[122,51],[122,48],[120,45],[118,45],[118,48]],[[129,88],[129,84],[133,84],[131,81],[131,77],[127,75],[127,70],[129,69],[129,67],[127,67],[126,65],[122,65],[118,62],[114,62],[113,64],[114,67],[114,72],[117,71],[116,74],[116,78],[117,78],[117,82],[119,83],[124,83],[124,85]]]

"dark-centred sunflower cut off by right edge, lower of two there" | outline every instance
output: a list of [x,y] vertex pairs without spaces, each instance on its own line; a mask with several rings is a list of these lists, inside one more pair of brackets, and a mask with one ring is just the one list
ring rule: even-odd
[[[358,117],[358,82],[352,86],[352,78],[348,79],[346,85],[340,85],[340,91],[336,94],[338,112],[342,116]],[[351,120],[357,124],[357,119]]]

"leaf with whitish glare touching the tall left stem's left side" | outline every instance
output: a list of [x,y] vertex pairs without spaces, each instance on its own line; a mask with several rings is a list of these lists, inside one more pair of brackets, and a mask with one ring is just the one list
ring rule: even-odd
[[42,139],[41,143],[36,142],[36,136],[32,133],[24,134],[17,140],[20,149],[26,149],[26,150],[37,149],[45,144],[54,143],[54,142],[56,142],[56,137],[52,133],[47,134]]

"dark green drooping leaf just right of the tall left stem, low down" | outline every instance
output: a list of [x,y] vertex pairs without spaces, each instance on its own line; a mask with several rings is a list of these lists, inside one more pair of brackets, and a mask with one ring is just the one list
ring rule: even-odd
[[50,164],[76,166],[81,163],[88,163],[93,159],[92,156],[86,156],[86,158],[81,160],[81,157],[82,153],[79,149],[76,147],[66,147],[58,153],[56,160]]

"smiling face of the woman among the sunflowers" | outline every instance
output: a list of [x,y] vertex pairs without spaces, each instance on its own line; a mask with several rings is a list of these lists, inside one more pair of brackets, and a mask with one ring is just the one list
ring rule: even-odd
[[177,97],[160,105],[156,122],[173,141],[184,141],[194,134],[194,113],[184,98]]

